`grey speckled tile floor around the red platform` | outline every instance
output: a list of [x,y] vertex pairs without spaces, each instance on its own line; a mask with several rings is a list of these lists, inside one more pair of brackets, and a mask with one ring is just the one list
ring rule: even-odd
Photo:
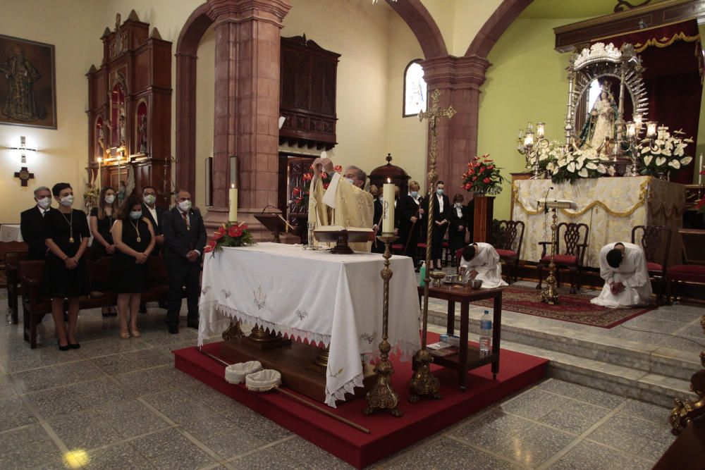
[[[0,326],[0,468],[350,468],[174,369],[196,333],[163,321],[149,309],[142,338],[122,340],[116,319],[82,312],[68,352],[48,317],[36,350]],[[673,442],[668,411],[549,379],[376,467],[647,469]]]

